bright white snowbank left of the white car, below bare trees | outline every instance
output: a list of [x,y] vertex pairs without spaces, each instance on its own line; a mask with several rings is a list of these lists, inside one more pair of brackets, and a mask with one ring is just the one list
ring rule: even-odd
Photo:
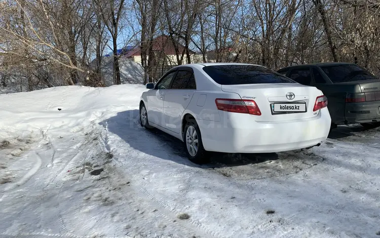
[[[106,88],[64,86],[1,94],[1,125],[14,131],[83,128],[94,120],[135,107],[131,100],[138,99],[137,95],[145,90],[141,85]],[[138,106],[138,101],[136,103]]]

